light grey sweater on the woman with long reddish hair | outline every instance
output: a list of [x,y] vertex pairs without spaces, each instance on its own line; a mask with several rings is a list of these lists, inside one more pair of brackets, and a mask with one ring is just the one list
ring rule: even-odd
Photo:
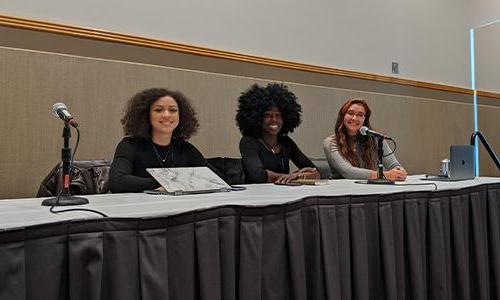
[[[335,134],[332,134],[323,140],[323,150],[325,151],[326,159],[332,170],[333,178],[347,178],[347,179],[369,179],[372,170],[358,168],[342,157],[339,149],[337,148],[337,140]],[[392,150],[389,145],[384,141],[384,155],[391,153]],[[401,166],[394,154],[382,158],[384,170],[390,170],[397,166]]]

